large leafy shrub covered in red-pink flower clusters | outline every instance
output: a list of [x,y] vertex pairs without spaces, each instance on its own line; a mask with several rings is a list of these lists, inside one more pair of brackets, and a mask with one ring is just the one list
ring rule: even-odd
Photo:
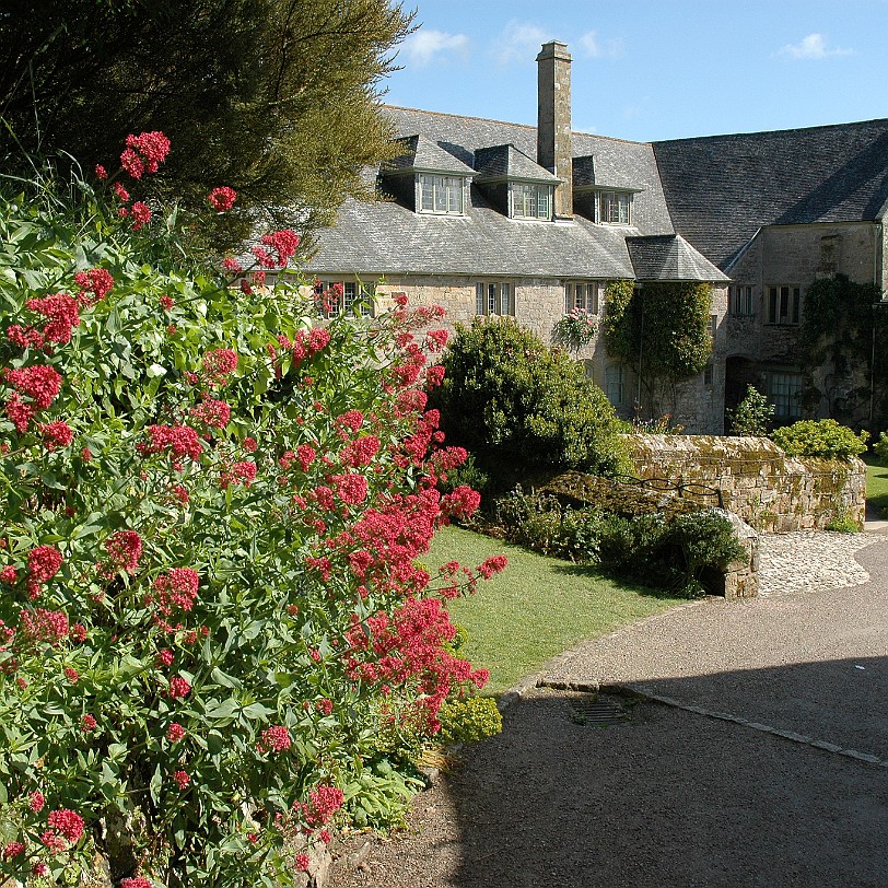
[[436,489],[464,454],[425,409],[428,311],[318,329],[285,273],[239,299],[103,173],[0,195],[0,874],[287,885],[382,785],[381,728],[483,685],[445,599],[503,560],[414,562],[478,504]]

